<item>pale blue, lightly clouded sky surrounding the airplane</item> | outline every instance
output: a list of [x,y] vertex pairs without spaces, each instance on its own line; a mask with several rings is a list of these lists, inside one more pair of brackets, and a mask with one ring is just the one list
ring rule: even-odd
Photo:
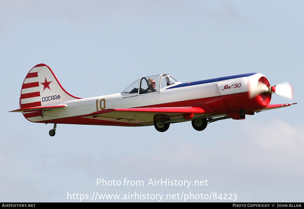
[[[302,202],[303,8],[296,0],[0,0],[0,202]],[[294,101],[274,94],[272,104],[298,104],[202,132],[191,122],[163,133],[57,124],[50,137],[52,124],[9,112],[39,63],[80,98],[100,95],[92,79],[106,95],[147,75],[184,83],[262,73],[293,86]]]

